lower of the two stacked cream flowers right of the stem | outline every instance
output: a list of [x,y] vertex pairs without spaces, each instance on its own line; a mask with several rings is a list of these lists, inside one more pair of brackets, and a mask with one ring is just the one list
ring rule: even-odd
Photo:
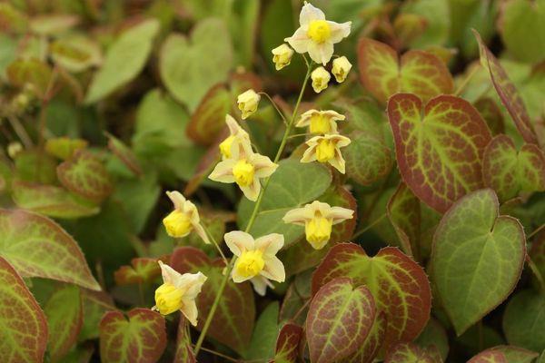
[[309,147],[302,154],[301,162],[329,162],[344,174],[344,159],[340,149],[350,142],[348,137],[342,135],[314,136],[306,142]]

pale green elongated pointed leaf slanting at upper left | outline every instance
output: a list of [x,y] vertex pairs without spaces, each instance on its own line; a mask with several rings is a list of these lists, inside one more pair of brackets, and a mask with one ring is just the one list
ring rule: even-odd
[[159,22],[155,19],[144,20],[125,30],[108,48],[104,64],[94,74],[84,102],[95,103],[132,81],[144,69],[158,31]]

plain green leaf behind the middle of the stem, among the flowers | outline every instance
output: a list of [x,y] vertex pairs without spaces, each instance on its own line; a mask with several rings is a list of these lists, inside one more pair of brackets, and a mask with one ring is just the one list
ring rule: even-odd
[[[260,212],[249,233],[255,237],[281,233],[284,236],[284,249],[287,248],[303,235],[304,229],[284,223],[282,217],[287,211],[317,199],[331,182],[331,172],[317,162],[282,160],[269,180],[267,191],[263,193]],[[250,220],[253,205],[253,201],[243,198],[238,206],[237,222],[241,230],[245,229]]]

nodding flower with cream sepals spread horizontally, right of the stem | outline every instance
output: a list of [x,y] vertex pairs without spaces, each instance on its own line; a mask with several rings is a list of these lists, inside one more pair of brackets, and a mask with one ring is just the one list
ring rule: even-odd
[[350,220],[354,211],[332,207],[322,201],[312,201],[302,208],[288,211],[282,221],[304,226],[306,240],[315,250],[321,250],[332,236],[332,226]]

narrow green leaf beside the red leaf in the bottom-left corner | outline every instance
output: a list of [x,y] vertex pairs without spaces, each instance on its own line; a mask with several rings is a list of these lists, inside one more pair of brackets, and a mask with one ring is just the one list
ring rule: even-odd
[[53,361],[63,358],[72,348],[82,329],[83,311],[79,289],[67,285],[54,292],[45,305],[49,327],[49,353]]

